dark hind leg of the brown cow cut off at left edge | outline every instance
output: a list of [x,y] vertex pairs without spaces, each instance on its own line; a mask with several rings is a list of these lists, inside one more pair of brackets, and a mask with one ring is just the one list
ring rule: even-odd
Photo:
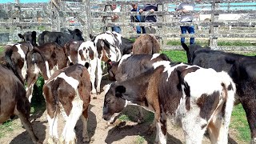
[[24,111],[15,110],[15,114],[18,115],[18,118],[21,119],[23,126],[25,126],[25,129],[30,134],[30,138],[34,143],[42,143],[38,140],[38,137],[34,134],[33,127],[31,126],[31,123],[29,119],[27,118],[27,114],[24,113]]

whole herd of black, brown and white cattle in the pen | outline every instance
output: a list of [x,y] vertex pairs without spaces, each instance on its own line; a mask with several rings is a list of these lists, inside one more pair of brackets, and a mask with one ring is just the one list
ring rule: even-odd
[[[42,143],[29,120],[33,86],[42,75],[48,142],[75,143],[79,118],[83,142],[89,142],[88,106],[91,96],[101,92],[106,66],[114,81],[104,90],[102,118],[108,123],[127,105],[137,105],[140,122],[142,107],[154,113],[150,130],[157,128],[155,142],[166,143],[166,120],[171,118],[182,126],[186,143],[202,143],[206,130],[212,143],[227,143],[233,106],[241,102],[251,143],[256,143],[256,57],[182,44],[186,64],[159,54],[159,43],[150,34],[132,42],[106,31],[85,41],[80,30],[69,32],[44,31],[38,44],[37,34],[26,32],[18,34],[23,42],[6,46],[0,59],[0,123],[16,114],[32,141]],[[66,120],[60,138],[59,114]]]

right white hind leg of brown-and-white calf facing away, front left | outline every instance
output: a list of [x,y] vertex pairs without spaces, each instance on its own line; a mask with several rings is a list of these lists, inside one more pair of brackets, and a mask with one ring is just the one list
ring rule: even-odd
[[[77,96],[78,97],[78,96]],[[70,115],[66,119],[66,125],[62,131],[62,137],[59,139],[60,143],[76,143],[76,136],[74,133],[74,126],[78,122],[78,119],[82,115],[82,100],[74,98],[72,102],[72,109],[70,110]]]

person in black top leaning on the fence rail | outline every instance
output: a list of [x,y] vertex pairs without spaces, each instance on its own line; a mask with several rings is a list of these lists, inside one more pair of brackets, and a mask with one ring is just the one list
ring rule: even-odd
[[[146,4],[143,9],[139,10],[140,13],[143,11],[149,11],[150,15],[145,16],[145,22],[157,22],[157,16],[153,15],[154,11],[158,11],[158,5]],[[155,34],[156,26],[145,26],[146,34]]]

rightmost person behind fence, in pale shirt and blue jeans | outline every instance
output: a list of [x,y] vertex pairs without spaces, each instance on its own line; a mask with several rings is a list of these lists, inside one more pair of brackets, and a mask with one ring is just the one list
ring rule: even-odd
[[[200,2],[201,0],[195,0],[194,2]],[[177,8],[175,8],[176,11],[182,13],[180,22],[192,22],[193,21],[193,15],[187,14],[190,11],[194,10],[194,2],[182,2],[178,5]],[[181,26],[182,34],[186,34],[186,31],[188,31],[189,34],[194,34],[194,26]],[[181,43],[185,43],[185,38],[181,38]],[[190,38],[190,45],[194,44],[194,38]]]

